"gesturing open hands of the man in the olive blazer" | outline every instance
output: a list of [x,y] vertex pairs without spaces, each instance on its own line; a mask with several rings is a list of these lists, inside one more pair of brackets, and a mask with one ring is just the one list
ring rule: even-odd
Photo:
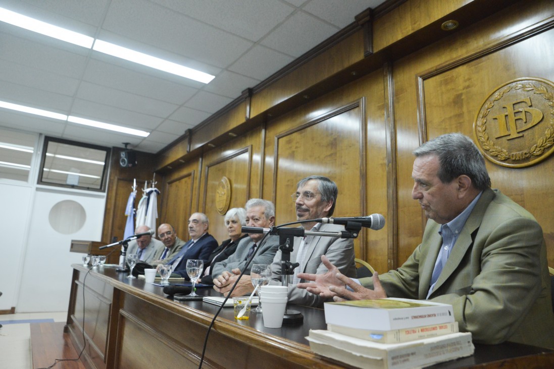
[[[373,273],[373,287],[369,289],[356,283],[354,280],[346,277],[338,271],[325,255],[321,256],[321,261],[328,269],[324,274],[299,273],[298,277],[311,282],[297,284],[298,288],[304,288],[307,292],[320,295],[323,298],[334,301],[344,300],[373,300],[387,297],[387,293],[381,286],[381,281],[377,272]],[[350,287],[351,290],[346,287]]]

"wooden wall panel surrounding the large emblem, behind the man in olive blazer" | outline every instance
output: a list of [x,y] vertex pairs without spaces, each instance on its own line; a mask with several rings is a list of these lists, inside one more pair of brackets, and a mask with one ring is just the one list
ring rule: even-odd
[[[416,201],[411,199],[411,151],[419,141],[447,132],[473,137],[473,122],[485,98],[507,81],[526,76],[554,81],[554,65],[545,58],[545,53],[553,51],[554,31],[548,30],[553,27],[552,3],[532,2],[520,8],[521,12],[514,12],[514,8],[394,64],[398,221],[402,234],[399,263],[420,242],[425,223]],[[506,33],[504,30],[510,27],[514,32]],[[552,264],[554,215],[548,209],[554,204],[547,193],[554,158],[526,169],[505,168],[490,162],[487,168],[493,188],[501,189],[526,207],[540,222]]]

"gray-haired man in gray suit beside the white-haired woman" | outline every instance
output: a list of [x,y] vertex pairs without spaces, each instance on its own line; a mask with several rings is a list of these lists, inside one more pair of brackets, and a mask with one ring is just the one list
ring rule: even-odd
[[[250,199],[247,201],[245,209],[246,225],[248,227],[273,227],[275,223],[275,206],[272,202],[263,199]],[[258,245],[258,242],[264,236],[262,233],[249,233],[249,236],[239,242],[237,251],[212,267],[212,276],[214,277],[213,288],[225,296],[233,287],[254,250],[259,249],[244,272],[244,276],[240,279],[239,284],[233,290],[232,296],[242,296],[244,293],[254,289],[250,276],[247,275],[250,274],[250,268],[254,264],[270,264],[279,248],[279,236],[268,235],[261,245]]]

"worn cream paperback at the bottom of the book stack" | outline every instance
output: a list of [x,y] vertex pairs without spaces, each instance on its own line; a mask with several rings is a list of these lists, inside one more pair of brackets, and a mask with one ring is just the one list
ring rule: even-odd
[[310,330],[316,354],[368,369],[407,369],[473,355],[471,333],[451,333],[402,344],[381,344],[327,330]]

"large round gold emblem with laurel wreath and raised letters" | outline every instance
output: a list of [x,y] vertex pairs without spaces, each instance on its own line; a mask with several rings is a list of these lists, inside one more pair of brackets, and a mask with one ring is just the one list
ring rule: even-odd
[[504,167],[537,164],[554,151],[554,82],[526,77],[490,93],[473,124],[487,159]]

